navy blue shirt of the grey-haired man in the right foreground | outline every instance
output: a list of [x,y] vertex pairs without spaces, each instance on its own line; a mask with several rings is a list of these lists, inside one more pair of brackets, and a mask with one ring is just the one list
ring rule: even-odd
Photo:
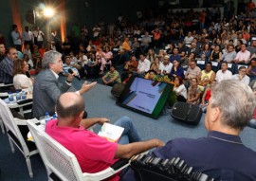
[[240,136],[211,131],[207,137],[176,138],[153,154],[161,158],[179,156],[195,171],[216,180],[256,180],[256,153],[243,145]]

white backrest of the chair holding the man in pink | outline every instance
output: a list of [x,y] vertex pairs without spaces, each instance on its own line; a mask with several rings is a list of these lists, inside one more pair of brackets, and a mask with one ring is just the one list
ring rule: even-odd
[[48,136],[40,126],[29,120],[27,120],[27,126],[45,163],[48,176],[54,172],[64,181],[82,180],[82,170],[74,154]]

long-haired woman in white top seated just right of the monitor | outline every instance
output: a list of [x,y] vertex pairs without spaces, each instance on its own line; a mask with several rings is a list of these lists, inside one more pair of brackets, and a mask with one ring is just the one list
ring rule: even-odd
[[183,84],[183,79],[179,76],[174,78],[174,92],[177,101],[187,101],[188,93],[185,85]]

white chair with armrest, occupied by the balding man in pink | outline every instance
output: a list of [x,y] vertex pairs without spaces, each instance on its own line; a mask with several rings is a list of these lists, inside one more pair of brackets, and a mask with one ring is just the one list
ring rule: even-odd
[[129,165],[128,160],[120,159],[101,172],[82,172],[74,154],[70,153],[51,136],[48,136],[40,126],[37,126],[31,120],[27,120],[27,125],[45,163],[49,180],[52,180],[54,175],[62,181],[98,181],[116,174]]

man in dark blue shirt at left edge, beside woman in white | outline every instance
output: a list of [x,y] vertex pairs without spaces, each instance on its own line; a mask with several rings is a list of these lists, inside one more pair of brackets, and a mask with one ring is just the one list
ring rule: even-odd
[[7,56],[0,63],[0,83],[12,83],[13,62],[17,59],[15,47],[9,47]]

